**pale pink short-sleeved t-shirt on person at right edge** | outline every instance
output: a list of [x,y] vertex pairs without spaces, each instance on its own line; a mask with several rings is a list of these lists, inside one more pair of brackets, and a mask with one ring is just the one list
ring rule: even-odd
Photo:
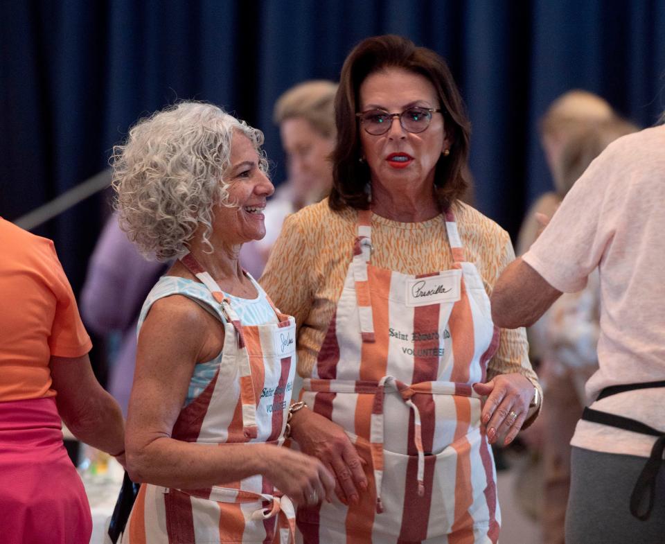
[[[622,137],[571,188],[524,255],[554,288],[575,292],[598,267],[601,333],[589,401],[604,387],[665,380],[665,126]],[[592,408],[665,432],[665,388]],[[579,421],[573,446],[648,457],[654,437]]]

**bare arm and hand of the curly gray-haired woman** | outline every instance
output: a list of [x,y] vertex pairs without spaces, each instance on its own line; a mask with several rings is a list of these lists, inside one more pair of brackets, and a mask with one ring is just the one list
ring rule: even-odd
[[199,489],[263,474],[296,502],[313,491],[330,496],[332,476],[312,457],[266,444],[208,446],[171,437],[196,362],[215,358],[223,343],[220,324],[184,297],[152,306],[139,335],[127,418],[132,480]]

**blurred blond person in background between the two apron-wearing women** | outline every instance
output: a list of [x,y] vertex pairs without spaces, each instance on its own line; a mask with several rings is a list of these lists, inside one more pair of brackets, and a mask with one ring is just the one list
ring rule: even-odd
[[336,91],[332,81],[305,81],[285,91],[275,103],[273,121],[279,126],[287,159],[287,181],[278,186],[265,208],[265,238],[246,243],[240,252],[242,265],[255,278],[263,272],[284,218],[330,193]]

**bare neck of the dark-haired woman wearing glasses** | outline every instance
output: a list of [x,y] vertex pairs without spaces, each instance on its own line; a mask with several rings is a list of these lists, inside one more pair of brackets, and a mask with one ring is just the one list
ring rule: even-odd
[[378,216],[403,223],[427,221],[441,213],[433,185],[420,191],[395,191],[373,183],[371,207]]

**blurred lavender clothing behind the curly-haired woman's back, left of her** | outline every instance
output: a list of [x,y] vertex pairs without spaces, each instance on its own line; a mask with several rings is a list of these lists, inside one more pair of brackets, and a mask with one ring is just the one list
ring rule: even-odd
[[81,315],[95,333],[121,335],[116,355],[110,361],[108,389],[125,416],[134,378],[139,311],[166,266],[148,261],[139,253],[118,226],[116,214],[104,226],[90,258],[80,297]]

